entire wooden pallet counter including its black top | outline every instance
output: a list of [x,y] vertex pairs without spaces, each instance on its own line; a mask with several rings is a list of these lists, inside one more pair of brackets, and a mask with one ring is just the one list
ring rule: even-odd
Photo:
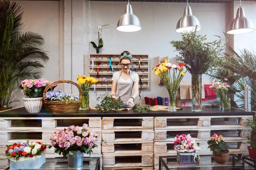
[[[27,113],[25,108],[0,112],[0,167],[6,167],[4,150],[6,144],[20,140],[43,140],[49,144],[49,136],[58,129],[70,125],[87,123],[98,133],[99,141],[92,157],[102,158],[101,166],[106,170],[141,169],[153,170],[159,165],[159,156],[175,156],[173,149],[176,134],[190,133],[201,147],[198,154],[210,155],[207,140],[213,133],[222,134],[230,145],[231,153],[248,153],[247,136],[249,128],[245,119],[252,119],[254,112],[232,108],[203,108],[201,113],[192,113],[184,107],[175,113],[151,111],[110,111],[99,113],[95,110],[77,113],[51,114]],[[87,156],[87,155],[85,155]],[[59,157],[54,148],[47,150],[48,158]]]

